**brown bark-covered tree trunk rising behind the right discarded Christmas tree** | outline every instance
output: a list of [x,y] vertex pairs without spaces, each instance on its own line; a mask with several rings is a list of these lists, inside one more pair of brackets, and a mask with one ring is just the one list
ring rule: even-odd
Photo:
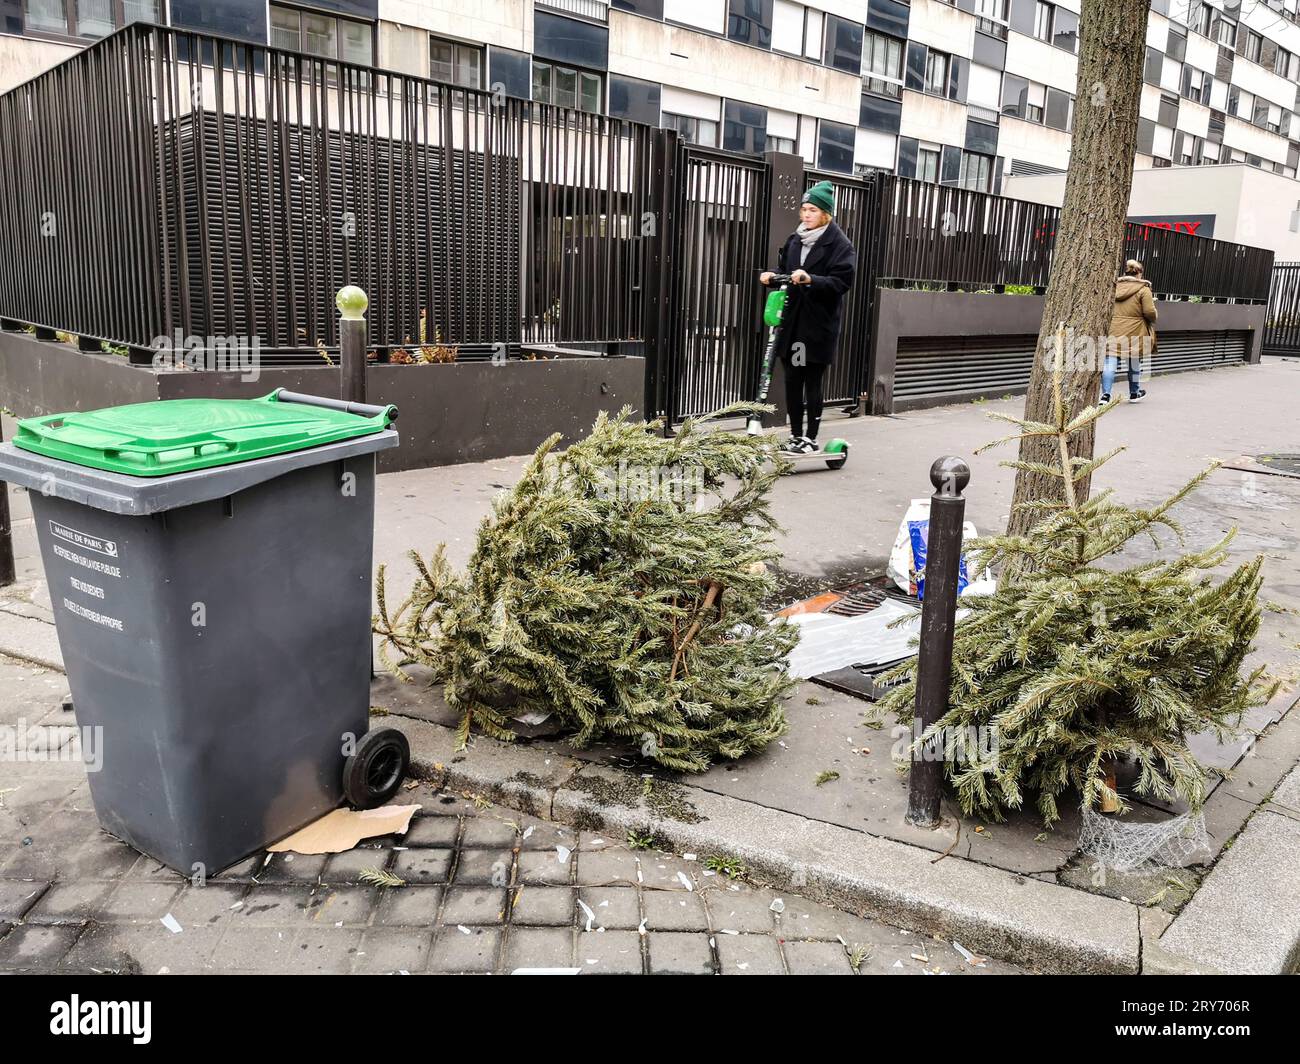
[[[1138,148],[1149,7],[1150,0],[1083,0],[1070,170],[1024,401],[1027,420],[1054,420],[1052,366],[1062,330],[1062,401],[1071,414],[1097,401]],[[1022,440],[1019,457],[1022,462],[1054,464],[1054,440]],[[1089,425],[1070,441],[1070,454],[1092,457],[1092,449]],[[1088,489],[1087,479],[1075,485],[1080,501]],[[1041,518],[1018,510],[1020,503],[1063,497],[1057,477],[1017,471],[1008,535],[1026,535]],[[1004,581],[1019,575],[1011,568],[1004,571]]]

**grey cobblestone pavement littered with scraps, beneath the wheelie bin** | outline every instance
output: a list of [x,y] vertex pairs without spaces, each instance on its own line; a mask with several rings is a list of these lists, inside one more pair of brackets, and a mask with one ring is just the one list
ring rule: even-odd
[[[64,678],[0,659],[0,725],[48,728]],[[408,786],[406,836],[257,855],[195,886],[99,830],[78,761],[0,761],[0,970],[952,974],[952,943]],[[403,887],[359,882],[391,871]],[[780,901],[777,903],[777,899]]]

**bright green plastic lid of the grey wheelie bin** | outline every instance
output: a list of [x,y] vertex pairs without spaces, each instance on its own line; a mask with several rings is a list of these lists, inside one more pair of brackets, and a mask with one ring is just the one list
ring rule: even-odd
[[[131,476],[169,476],[380,432],[396,407],[360,407],[276,389],[260,399],[162,399],[18,423],[13,445]],[[311,399],[312,402],[307,402]],[[317,405],[330,403],[330,406]]]

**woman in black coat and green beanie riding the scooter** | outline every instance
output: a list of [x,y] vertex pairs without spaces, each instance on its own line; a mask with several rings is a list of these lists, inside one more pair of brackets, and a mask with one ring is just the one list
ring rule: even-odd
[[[793,281],[775,350],[785,369],[790,438],[781,450],[789,454],[809,454],[819,449],[822,379],[835,359],[840,307],[858,268],[858,252],[832,220],[833,215],[835,189],[829,181],[819,181],[803,194],[800,228],[777,256],[776,272],[789,273]],[[759,281],[771,285],[772,273],[763,273]]]

